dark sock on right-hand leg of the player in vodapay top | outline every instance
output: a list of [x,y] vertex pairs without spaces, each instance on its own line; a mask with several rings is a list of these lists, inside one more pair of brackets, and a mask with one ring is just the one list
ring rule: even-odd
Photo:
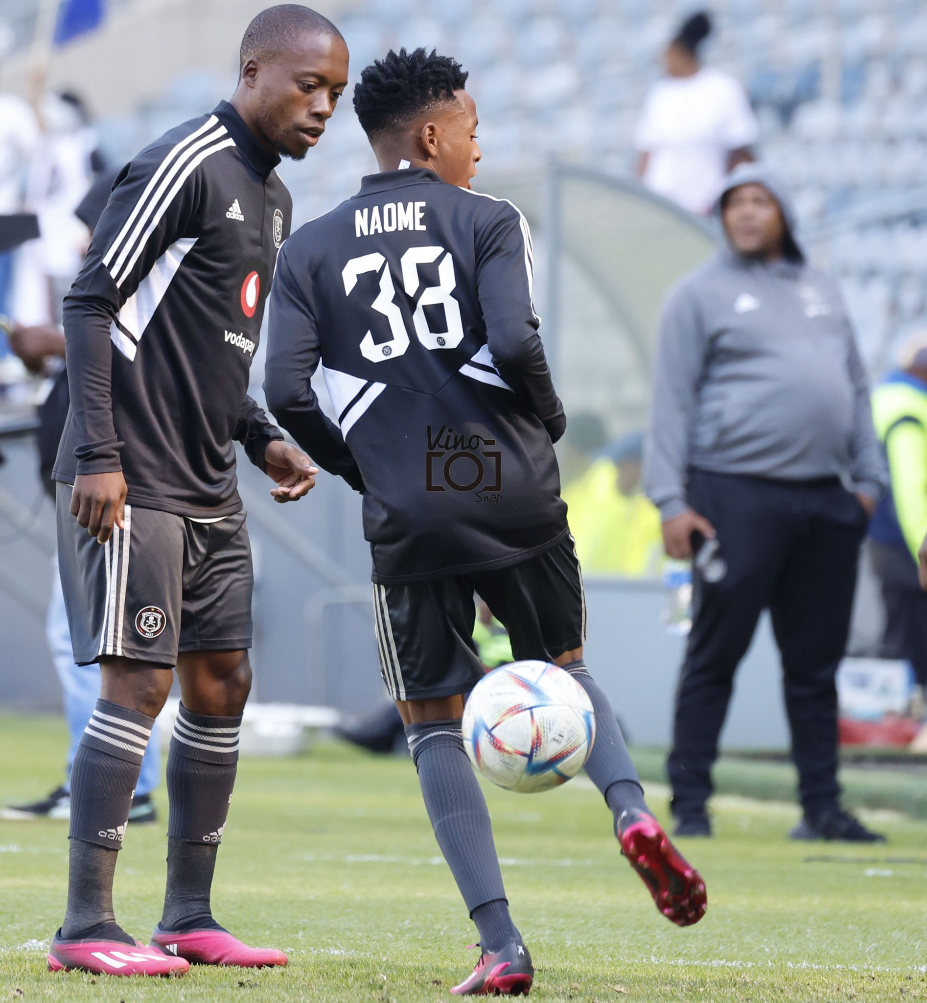
[[194,714],[180,704],[167,756],[167,886],[162,930],[221,930],[209,890],[239,764],[242,716]]

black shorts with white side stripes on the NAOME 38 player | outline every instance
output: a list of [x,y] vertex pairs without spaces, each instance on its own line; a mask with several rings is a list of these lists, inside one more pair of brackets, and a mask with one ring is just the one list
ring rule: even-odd
[[509,568],[375,584],[380,671],[394,700],[468,693],[483,677],[473,643],[474,593],[505,625],[516,661],[551,662],[585,642],[586,604],[572,537]]

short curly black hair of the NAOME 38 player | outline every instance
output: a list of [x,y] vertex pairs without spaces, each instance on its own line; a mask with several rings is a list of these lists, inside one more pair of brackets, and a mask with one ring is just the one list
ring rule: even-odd
[[469,74],[450,56],[423,48],[392,49],[361,73],[354,88],[354,110],[371,139],[408,124],[432,107],[456,100]]

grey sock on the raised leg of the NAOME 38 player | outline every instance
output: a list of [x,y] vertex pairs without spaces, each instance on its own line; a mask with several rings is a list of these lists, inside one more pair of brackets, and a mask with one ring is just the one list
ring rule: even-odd
[[608,697],[598,688],[583,661],[568,662],[563,668],[589,695],[595,711],[595,744],[585,764],[589,779],[602,792],[614,815],[617,830],[624,811],[650,813],[643,799],[637,770],[628,755],[624,736],[615,720]]

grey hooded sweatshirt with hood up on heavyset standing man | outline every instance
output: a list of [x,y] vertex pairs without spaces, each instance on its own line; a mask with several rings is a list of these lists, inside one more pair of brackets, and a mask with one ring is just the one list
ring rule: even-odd
[[806,264],[774,176],[741,164],[722,200],[751,182],[782,207],[785,257],[757,262],[725,248],[663,305],[644,469],[663,521],[686,509],[689,466],[783,480],[840,476],[876,499],[887,484],[837,285]]

